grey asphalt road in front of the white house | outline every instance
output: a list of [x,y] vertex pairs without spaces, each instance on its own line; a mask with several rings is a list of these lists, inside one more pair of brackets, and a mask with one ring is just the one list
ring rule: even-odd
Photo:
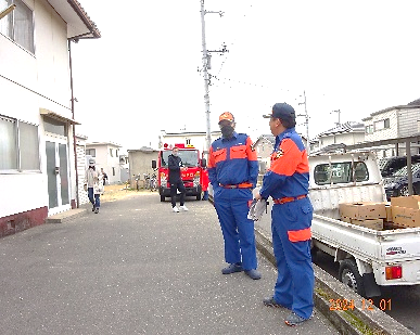
[[187,206],[135,195],[1,239],[0,333],[338,334],[317,311],[294,328],[263,306],[276,280],[264,257],[259,281],[222,275],[212,204]]

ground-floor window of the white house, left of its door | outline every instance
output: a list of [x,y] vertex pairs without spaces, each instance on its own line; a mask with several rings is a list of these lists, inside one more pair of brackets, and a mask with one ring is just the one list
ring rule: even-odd
[[39,171],[38,126],[0,115],[0,170]]

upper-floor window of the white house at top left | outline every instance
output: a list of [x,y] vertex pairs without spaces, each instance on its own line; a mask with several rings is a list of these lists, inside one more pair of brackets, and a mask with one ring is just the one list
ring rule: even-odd
[[12,3],[16,4],[16,8],[0,21],[0,33],[35,53],[34,12],[22,0],[0,0],[0,10]]

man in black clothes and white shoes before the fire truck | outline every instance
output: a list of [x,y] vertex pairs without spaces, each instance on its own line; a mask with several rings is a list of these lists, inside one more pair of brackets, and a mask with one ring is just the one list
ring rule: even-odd
[[181,178],[181,169],[184,169],[181,158],[178,156],[179,149],[174,146],[171,155],[168,157],[168,168],[169,168],[169,184],[170,184],[170,201],[173,205],[173,210],[179,212],[177,207],[177,191],[180,192],[180,206],[182,210],[188,210],[184,205],[186,201],[186,186]]

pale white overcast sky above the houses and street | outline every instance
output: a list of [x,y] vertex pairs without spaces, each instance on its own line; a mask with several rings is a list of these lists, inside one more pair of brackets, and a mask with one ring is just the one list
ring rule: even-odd
[[[200,0],[79,0],[102,34],[72,46],[78,133],[156,147],[160,130],[206,130]],[[276,102],[309,115],[309,137],[420,98],[419,1],[206,0],[211,119],[268,133]],[[306,134],[304,117],[297,130]]]

